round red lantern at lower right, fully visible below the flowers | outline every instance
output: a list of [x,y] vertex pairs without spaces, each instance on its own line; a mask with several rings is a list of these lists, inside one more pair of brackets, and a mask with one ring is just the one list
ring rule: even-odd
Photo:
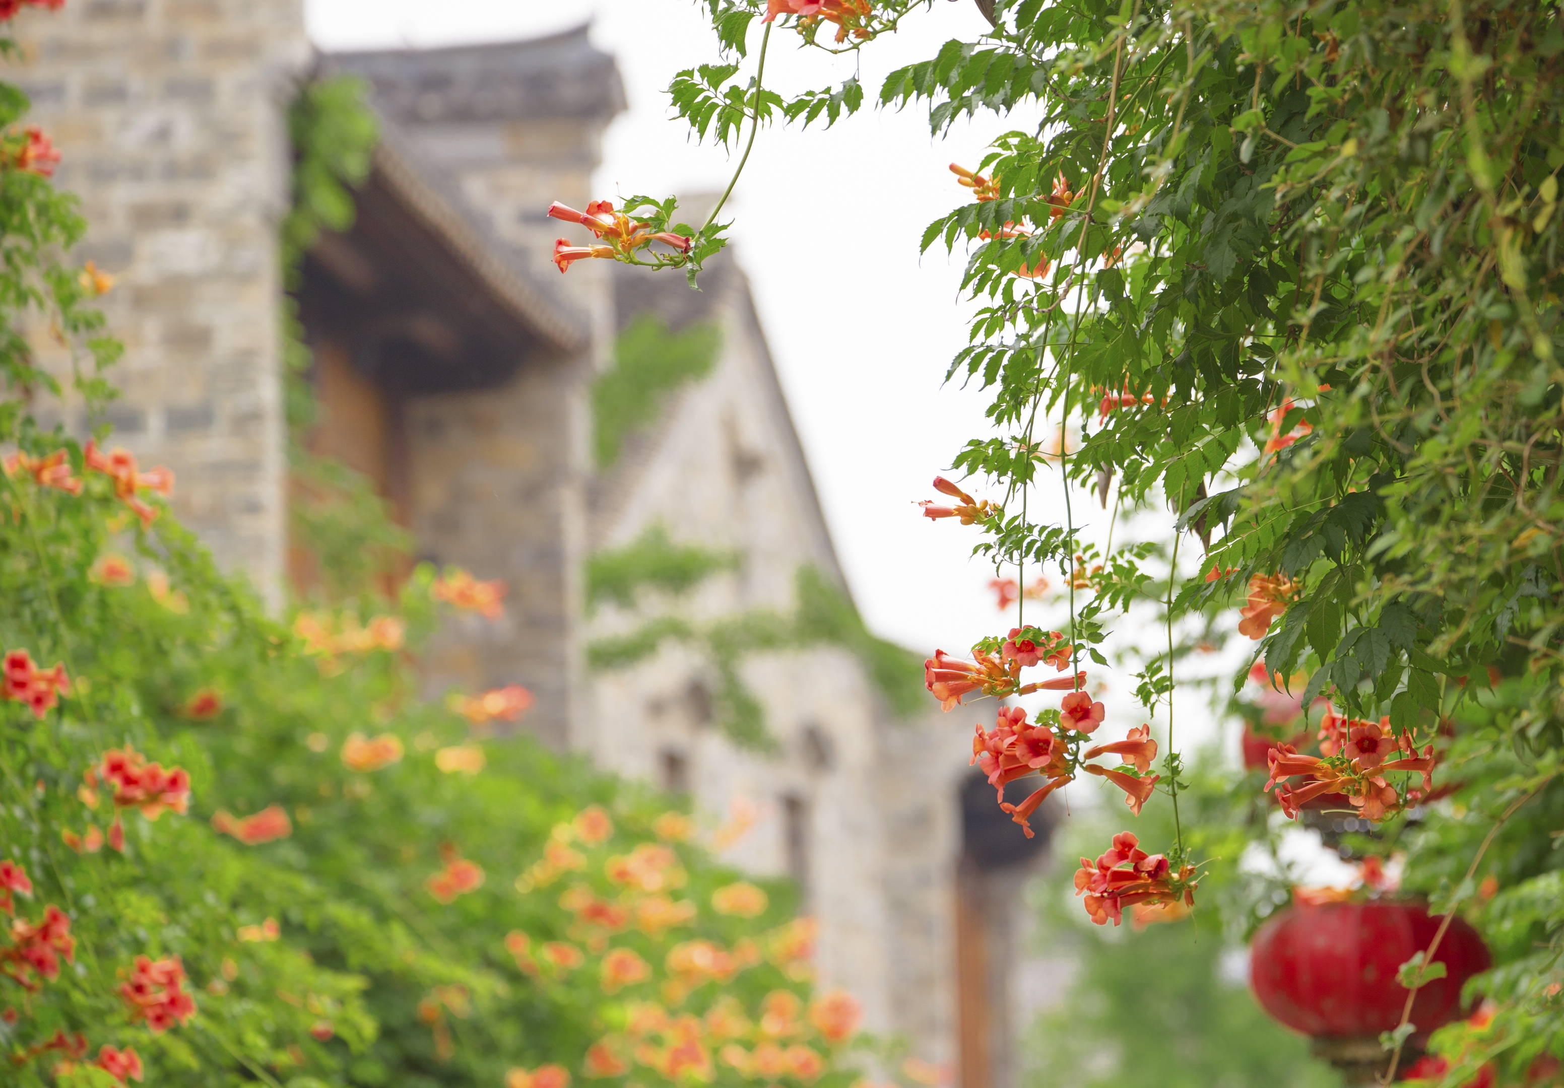
[[[1372,900],[1293,907],[1254,935],[1250,979],[1270,1016],[1315,1038],[1315,1050],[1348,1074],[1384,1065],[1379,1033],[1401,1022],[1406,988],[1397,969],[1426,950],[1440,919],[1415,902]],[[1425,1036],[1461,1016],[1461,986],[1487,971],[1487,946],[1459,918],[1434,961],[1445,977],[1423,985],[1411,1022]],[[1362,1082],[1367,1083],[1367,1082]]]

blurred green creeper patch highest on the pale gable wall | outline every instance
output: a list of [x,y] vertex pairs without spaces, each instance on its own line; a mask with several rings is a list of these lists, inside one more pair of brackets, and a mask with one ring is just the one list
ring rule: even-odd
[[591,391],[597,467],[612,467],[635,431],[657,421],[668,399],[716,366],[721,331],[690,325],[677,333],[655,314],[640,314],[615,344],[613,367]]

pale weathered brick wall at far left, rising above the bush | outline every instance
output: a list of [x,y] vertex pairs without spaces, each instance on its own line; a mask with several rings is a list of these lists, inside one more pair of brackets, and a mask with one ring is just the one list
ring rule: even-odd
[[[125,342],[114,441],[174,469],[180,517],[277,602],[277,224],[285,111],[310,59],[302,0],[74,0],[25,11],[17,34],[19,83],[91,222],[80,258],[119,281],[103,300]],[[84,431],[80,411],[66,422]]]

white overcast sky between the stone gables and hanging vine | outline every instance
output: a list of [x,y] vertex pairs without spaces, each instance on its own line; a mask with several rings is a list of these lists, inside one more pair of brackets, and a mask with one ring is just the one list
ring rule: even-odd
[[[322,48],[532,38],[591,20],[630,103],[608,130],[597,194],[716,192],[727,183],[729,153],[691,142],[683,122],[668,119],[663,88],[674,72],[716,58],[694,0],[308,0],[308,19]],[[802,52],[784,33],[766,83],[823,88],[862,63],[873,92],[885,72],[982,25],[970,0],[935,0],[860,61]],[[992,571],[968,558],[974,533],[920,519],[912,505],[932,496],[929,480],[968,438],[985,433],[984,400],[942,389],[970,311],[957,291],[960,261],[943,252],[920,259],[918,238],[965,200],[946,164],[976,164],[993,136],[1028,125],[985,119],[935,142],[924,111],[909,108],[865,109],[830,131],[762,130],[729,203],[735,252],[859,607],[876,632],[924,653],[960,650],[1001,616]]]

